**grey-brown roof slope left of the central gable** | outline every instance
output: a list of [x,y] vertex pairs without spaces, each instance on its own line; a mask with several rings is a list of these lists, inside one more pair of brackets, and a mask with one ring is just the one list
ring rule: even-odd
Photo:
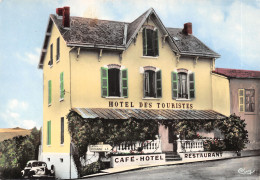
[[62,19],[50,15],[67,44],[122,46],[125,22],[71,17],[70,29],[63,28]]

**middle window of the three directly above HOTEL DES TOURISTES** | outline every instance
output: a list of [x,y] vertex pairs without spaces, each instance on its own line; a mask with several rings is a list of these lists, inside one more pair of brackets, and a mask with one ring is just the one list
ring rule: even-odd
[[156,68],[145,68],[144,71],[144,97],[161,98],[162,97],[162,78],[161,70]]

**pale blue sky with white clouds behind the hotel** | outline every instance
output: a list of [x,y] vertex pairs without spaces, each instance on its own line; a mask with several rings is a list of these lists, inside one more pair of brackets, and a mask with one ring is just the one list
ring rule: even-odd
[[216,67],[260,70],[260,0],[0,0],[0,128],[40,128],[37,68],[49,14],[132,22],[154,8],[166,27],[192,22],[193,35],[221,55]]

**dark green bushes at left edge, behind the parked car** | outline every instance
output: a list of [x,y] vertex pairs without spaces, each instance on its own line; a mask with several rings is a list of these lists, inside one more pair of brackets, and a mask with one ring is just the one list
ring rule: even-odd
[[[38,159],[40,131],[33,128],[30,135],[17,136],[0,142],[0,170],[4,178],[16,178],[16,171],[23,169],[29,160]],[[12,170],[13,168],[13,170]],[[8,172],[12,172],[9,174]],[[5,177],[4,175],[8,175]]]

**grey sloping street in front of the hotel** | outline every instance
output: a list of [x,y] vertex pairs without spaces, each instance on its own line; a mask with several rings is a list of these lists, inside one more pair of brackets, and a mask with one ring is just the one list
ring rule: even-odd
[[105,175],[91,179],[235,179],[260,180],[260,156],[228,159],[220,161],[198,162],[184,165],[161,166]]

